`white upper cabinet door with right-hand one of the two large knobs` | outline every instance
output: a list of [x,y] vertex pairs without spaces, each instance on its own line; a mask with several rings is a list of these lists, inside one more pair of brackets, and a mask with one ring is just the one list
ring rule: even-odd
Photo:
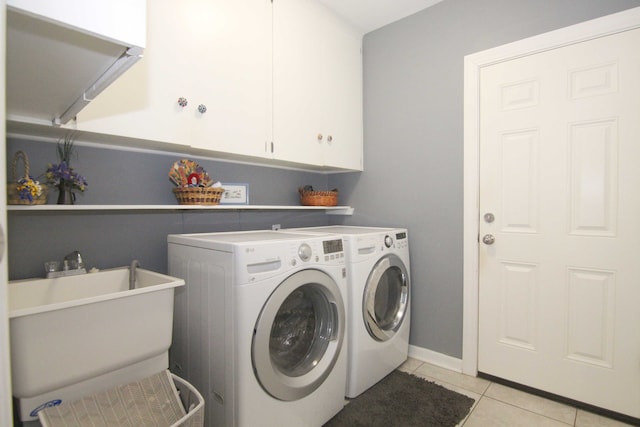
[[191,145],[264,157],[271,143],[271,3],[208,4],[215,10],[200,25],[206,42],[194,98],[207,111],[194,123]]

